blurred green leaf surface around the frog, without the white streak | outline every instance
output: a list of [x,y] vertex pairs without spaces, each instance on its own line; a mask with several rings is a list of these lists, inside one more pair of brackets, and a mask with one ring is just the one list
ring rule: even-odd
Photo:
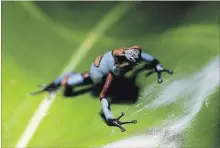
[[[2,147],[17,144],[46,94],[31,97],[37,84],[54,80],[83,41],[96,42],[74,71],[87,71],[94,58],[121,46],[140,45],[177,75],[191,75],[219,54],[219,2],[2,2]],[[156,76],[136,80],[140,92]],[[166,81],[172,77],[165,75]],[[161,86],[162,87],[162,86]],[[153,100],[154,98],[143,98]],[[219,144],[219,91],[192,122],[183,147]],[[115,115],[135,104],[113,105]],[[101,146],[143,132],[180,114],[179,102],[139,114],[137,125],[121,133],[108,127],[90,93],[65,99],[58,95],[28,146]],[[137,109],[131,109],[131,114]],[[176,111],[178,110],[178,111]],[[125,116],[129,119],[129,116]],[[91,122],[91,123],[90,123]],[[211,122],[211,123],[210,123]],[[112,130],[114,132],[112,132]]]

